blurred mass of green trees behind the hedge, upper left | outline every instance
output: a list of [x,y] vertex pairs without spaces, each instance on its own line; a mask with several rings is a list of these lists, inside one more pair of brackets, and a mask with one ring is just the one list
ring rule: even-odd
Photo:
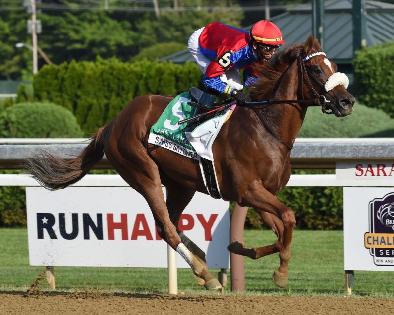
[[[239,9],[230,0],[178,0],[179,10],[173,7],[174,1],[158,2],[159,21],[151,2],[108,0],[109,9],[105,10],[104,1],[42,0],[37,6],[42,25],[38,44],[56,64],[96,60],[98,56],[129,61],[157,43],[176,42],[186,47],[192,32],[210,22],[240,27],[243,18],[239,10],[223,10],[229,6]],[[31,44],[26,32],[30,15],[15,1],[1,1],[0,5],[6,9],[0,20],[0,78],[28,79],[32,52],[15,48],[15,43]],[[168,50],[168,54],[172,52]],[[38,62],[39,68],[45,64],[41,58]]]

